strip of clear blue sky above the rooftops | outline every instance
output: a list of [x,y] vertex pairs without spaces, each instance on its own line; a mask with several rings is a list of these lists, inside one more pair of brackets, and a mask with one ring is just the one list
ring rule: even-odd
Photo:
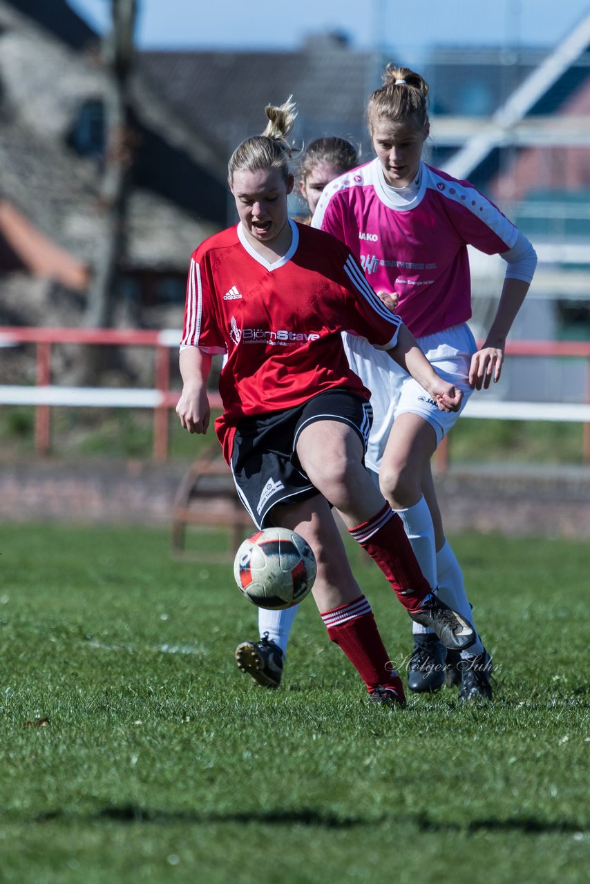
[[[68,0],[101,30],[111,0]],[[142,49],[294,50],[340,30],[356,49],[433,45],[550,47],[590,12],[588,0],[138,0]]]

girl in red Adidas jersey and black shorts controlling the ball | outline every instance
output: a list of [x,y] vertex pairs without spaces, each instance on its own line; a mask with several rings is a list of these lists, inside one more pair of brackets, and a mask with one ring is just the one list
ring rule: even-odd
[[474,634],[433,593],[401,520],[364,469],[370,394],[349,368],[341,331],[390,353],[437,408],[459,408],[462,393],[437,375],[379,301],[349,248],[288,218],[295,106],[289,100],[266,114],[264,134],[243,141],[229,162],[239,224],[192,256],[176,410],[189,432],[207,431],[211,357],[226,354],[216,431],[244,506],[258,528],[280,525],[305,537],[318,560],[313,595],[328,635],[373,701],[402,703],[402,682],[349,569],[330,504],[412,620],[451,648],[466,647]]

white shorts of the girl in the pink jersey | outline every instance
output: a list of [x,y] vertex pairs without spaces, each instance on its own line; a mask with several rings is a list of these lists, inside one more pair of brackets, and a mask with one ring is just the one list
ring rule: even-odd
[[468,378],[471,356],[478,347],[469,326],[462,323],[418,338],[418,344],[433,368],[464,392],[461,408],[452,412],[440,411],[424,388],[400,368],[385,350],[378,350],[367,339],[357,338],[349,332],[344,332],[342,339],[350,368],[371,390],[373,424],[364,457],[366,466],[379,472],[395,418],[406,412],[420,415],[426,423],[430,423],[436,433],[436,444],[440,445],[473,392]]

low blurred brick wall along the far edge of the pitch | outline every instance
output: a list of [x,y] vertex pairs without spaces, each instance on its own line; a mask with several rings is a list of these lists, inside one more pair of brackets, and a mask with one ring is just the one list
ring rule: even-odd
[[[170,525],[186,464],[19,461],[0,465],[1,522]],[[228,473],[228,482],[231,482]],[[590,469],[451,469],[436,479],[445,528],[590,535]]]

